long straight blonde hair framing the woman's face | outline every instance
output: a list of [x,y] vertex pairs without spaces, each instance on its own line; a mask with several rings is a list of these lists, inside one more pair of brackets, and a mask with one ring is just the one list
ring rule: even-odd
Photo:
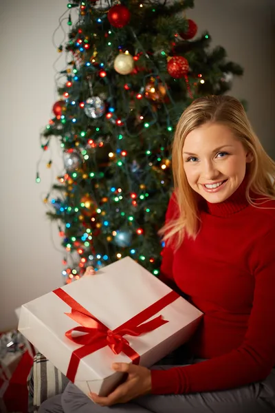
[[168,244],[173,242],[175,248],[180,246],[185,235],[195,238],[199,231],[199,198],[186,179],[182,150],[190,131],[206,123],[220,123],[229,127],[245,149],[252,153],[253,160],[247,165],[248,185],[245,195],[248,202],[256,206],[250,198],[250,191],[263,195],[264,202],[275,200],[272,182],[275,177],[275,162],[263,149],[241,102],[232,96],[197,98],[179,118],[173,140],[172,166],[179,213],[159,231],[163,240],[168,241]]

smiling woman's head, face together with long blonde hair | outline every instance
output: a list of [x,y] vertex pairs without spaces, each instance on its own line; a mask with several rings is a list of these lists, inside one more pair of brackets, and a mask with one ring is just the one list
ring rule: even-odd
[[232,96],[192,102],[177,124],[172,163],[179,214],[159,232],[176,247],[184,235],[196,237],[201,198],[213,204],[223,202],[245,178],[249,204],[254,204],[252,193],[275,200],[270,178],[275,176],[275,162],[254,133],[243,105]]

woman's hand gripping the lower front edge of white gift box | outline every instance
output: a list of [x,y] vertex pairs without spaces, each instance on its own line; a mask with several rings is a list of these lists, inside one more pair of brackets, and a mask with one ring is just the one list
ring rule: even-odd
[[107,397],[100,397],[95,393],[90,393],[94,403],[100,406],[111,406],[116,403],[126,403],[135,399],[135,397],[151,392],[151,371],[148,368],[128,363],[113,363],[112,368],[116,372],[128,373],[126,381],[118,385]]

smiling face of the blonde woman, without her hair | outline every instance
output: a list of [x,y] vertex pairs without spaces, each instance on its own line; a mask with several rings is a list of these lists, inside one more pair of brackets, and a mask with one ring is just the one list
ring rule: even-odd
[[217,123],[206,123],[186,136],[184,171],[190,187],[208,202],[223,202],[236,191],[252,161],[232,131]]

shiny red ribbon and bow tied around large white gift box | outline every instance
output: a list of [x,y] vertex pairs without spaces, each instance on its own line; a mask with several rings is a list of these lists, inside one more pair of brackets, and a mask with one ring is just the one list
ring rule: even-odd
[[[124,352],[124,354],[126,354],[126,356],[128,356],[134,364],[138,364],[140,362],[140,355],[130,347],[129,341],[123,336],[131,335],[136,337],[145,334],[146,332],[153,331],[163,324],[168,323],[168,321],[162,318],[162,315],[159,315],[151,321],[146,320],[153,317],[156,313],[159,313],[159,311],[179,297],[175,291],[171,291],[151,306],[145,308],[145,310],[142,310],[141,313],[126,321],[121,326],[115,328],[114,330],[110,330],[69,294],[65,293],[62,288],[57,288],[53,291],[53,293],[55,293],[72,308],[71,313],[65,314],[82,326],[71,328],[71,330],[65,332],[68,339],[74,341],[74,343],[83,345],[72,352],[72,357],[69,361],[66,376],[73,383],[76,378],[76,372],[78,370],[80,359],[83,359],[83,357],[86,357],[88,354],[96,352],[105,346],[109,346],[115,354]],[[73,332],[85,332],[86,334],[75,336],[73,335]]]

